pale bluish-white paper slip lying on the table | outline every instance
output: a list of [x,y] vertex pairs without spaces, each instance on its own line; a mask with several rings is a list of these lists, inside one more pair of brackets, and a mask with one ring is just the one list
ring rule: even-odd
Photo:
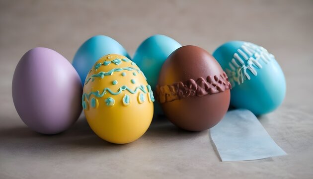
[[223,162],[287,155],[247,109],[227,112],[221,122],[210,131]]

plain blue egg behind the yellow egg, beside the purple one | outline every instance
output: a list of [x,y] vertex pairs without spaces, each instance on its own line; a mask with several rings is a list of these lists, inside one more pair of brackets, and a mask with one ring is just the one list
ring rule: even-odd
[[124,55],[130,59],[121,44],[105,35],[93,36],[79,47],[72,64],[78,72],[82,85],[94,63],[107,54]]

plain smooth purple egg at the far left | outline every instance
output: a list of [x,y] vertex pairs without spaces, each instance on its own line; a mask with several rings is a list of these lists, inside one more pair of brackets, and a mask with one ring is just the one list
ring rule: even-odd
[[18,62],[12,81],[14,106],[23,122],[43,134],[68,129],[81,113],[78,73],[58,52],[33,48]]

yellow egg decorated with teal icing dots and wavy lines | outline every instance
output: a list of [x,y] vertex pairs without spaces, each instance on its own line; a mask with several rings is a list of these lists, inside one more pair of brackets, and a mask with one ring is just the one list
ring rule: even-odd
[[125,144],[147,131],[155,99],[134,62],[109,54],[89,71],[81,100],[91,129],[108,142]]

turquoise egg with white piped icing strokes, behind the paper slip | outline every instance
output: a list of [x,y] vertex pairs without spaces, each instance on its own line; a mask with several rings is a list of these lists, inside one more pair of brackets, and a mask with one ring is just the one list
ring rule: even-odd
[[231,105],[255,115],[276,109],[286,95],[286,81],[274,56],[250,42],[230,41],[213,56],[232,84]]

